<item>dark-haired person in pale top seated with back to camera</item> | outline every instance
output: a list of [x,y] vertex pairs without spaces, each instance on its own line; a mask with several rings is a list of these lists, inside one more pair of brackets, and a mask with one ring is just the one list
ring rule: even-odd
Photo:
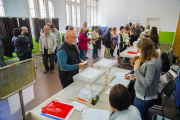
[[112,87],[109,102],[113,111],[109,120],[141,120],[138,109],[131,105],[127,88],[122,84]]

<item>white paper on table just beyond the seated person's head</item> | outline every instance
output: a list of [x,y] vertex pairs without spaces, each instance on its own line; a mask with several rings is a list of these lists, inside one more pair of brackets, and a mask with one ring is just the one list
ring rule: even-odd
[[109,86],[113,87],[116,84],[123,84],[125,87],[127,87],[130,81],[124,78],[125,74],[127,73],[116,72],[116,78],[109,84]]

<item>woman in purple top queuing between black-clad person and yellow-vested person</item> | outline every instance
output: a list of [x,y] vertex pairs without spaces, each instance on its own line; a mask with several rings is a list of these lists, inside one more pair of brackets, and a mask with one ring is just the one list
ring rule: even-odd
[[116,33],[116,31],[117,31],[117,27],[113,27],[113,32],[111,33],[111,38],[112,38],[112,44],[111,44],[111,46],[112,46],[112,49],[111,49],[111,57],[115,57],[114,55],[113,55],[113,53],[114,53],[114,49],[115,49],[115,47],[117,46],[117,48],[118,48],[118,38],[117,38],[117,33]]

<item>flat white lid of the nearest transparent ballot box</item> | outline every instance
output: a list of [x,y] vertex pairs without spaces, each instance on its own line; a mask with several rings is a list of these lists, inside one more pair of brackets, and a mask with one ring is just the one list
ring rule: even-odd
[[99,73],[101,73],[101,71],[95,70],[95,69],[89,69],[89,70],[81,73],[80,75],[83,76],[83,77],[92,79],[93,77],[95,77]]

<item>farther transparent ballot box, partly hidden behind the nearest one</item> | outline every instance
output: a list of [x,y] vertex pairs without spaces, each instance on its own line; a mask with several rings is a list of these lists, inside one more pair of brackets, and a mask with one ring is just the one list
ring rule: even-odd
[[93,64],[94,68],[106,71],[106,74],[105,74],[106,84],[110,83],[112,80],[116,78],[115,72],[111,71],[111,69],[117,66],[117,62],[118,62],[117,60],[103,58],[99,60],[98,62],[96,62],[95,64]]

